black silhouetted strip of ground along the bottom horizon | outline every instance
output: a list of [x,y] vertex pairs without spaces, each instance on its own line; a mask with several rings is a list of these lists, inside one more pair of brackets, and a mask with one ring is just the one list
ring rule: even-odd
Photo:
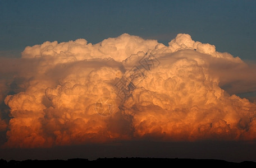
[[[124,163],[125,165],[134,165],[136,162],[145,165],[161,165],[168,164],[168,166],[232,166],[232,167],[256,167],[256,162],[253,161],[243,161],[243,162],[228,162],[225,160],[215,160],[215,159],[192,159],[192,158],[143,158],[143,157],[126,157],[126,158],[98,158],[97,160],[88,160],[86,158],[71,158],[68,160],[23,160],[16,161],[10,160],[6,161],[0,160],[0,167],[16,167],[16,166],[83,166],[87,165],[118,165]],[[121,166],[121,165],[120,165]]]

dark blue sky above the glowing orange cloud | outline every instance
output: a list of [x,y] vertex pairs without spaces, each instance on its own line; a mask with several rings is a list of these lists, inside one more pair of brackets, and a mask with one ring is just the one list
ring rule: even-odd
[[123,33],[168,44],[178,33],[241,59],[256,59],[256,1],[3,1],[0,54],[28,45]]

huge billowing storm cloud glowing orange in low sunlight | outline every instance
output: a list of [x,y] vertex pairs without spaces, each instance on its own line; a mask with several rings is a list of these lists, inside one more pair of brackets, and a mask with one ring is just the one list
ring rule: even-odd
[[256,104],[235,95],[255,68],[188,34],[46,41],[0,66],[5,147],[256,139]]

